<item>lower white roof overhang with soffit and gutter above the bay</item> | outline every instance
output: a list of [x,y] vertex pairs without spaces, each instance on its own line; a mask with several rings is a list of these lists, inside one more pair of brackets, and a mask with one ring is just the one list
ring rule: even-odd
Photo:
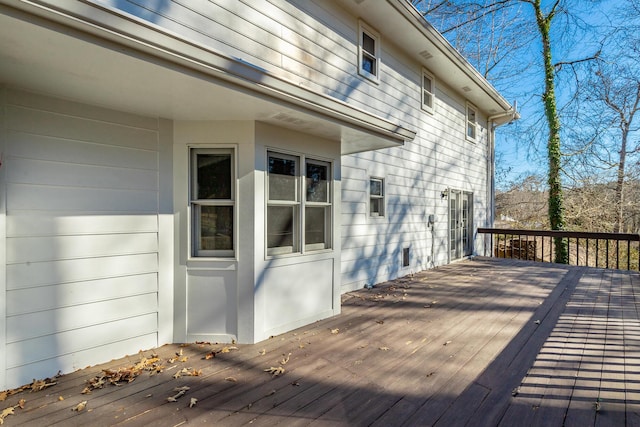
[[343,154],[416,132],[107,8],[0,1],[0,84],[174,120],[258,120],[341,141]]

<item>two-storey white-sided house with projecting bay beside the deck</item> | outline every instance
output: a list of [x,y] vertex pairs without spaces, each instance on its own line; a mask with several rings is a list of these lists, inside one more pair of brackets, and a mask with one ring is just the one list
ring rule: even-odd
[[515,115],[405,0],[0,0],[0,389],[478,252]]

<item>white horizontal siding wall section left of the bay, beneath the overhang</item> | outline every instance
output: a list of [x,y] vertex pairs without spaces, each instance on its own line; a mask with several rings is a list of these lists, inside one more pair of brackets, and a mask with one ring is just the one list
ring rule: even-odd
[[18,91],[5,112],[8,385],[157,345],[157,120]]

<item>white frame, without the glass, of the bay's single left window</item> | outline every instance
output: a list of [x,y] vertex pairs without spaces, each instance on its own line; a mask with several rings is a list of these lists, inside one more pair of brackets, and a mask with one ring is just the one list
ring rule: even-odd
[[[197,159],[198,154],[229,154],[231,156],[231,198],[229,199],[198,199]],[[189,247],[192,258],[232,258],[235,257],[237,247],[237,209],[236,209],[236,150],[235,147],[189,147]],[[197,214],[203,206],[229,206],[232,208],[232,235],[230,250],[200,249],[200,216]]]

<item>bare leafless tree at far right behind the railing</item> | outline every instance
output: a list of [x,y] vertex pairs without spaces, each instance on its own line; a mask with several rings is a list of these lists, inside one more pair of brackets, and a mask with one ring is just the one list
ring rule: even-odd
[[609,206],[615,217],[609,228],[613,232],[633,229],[634,221],[628,222],[627,217],[634,214],[638,203],[627,192],[631,189],[628,182],[637,177],[640,154],[640,1],[626,6],[618,14],[625,24],[608,29],[604,53],[591,64],[578,88],[573,106],[575,155],[569,165],[572,175],[581,177],[579,185],[600,177],[601,183],[615,189]]

